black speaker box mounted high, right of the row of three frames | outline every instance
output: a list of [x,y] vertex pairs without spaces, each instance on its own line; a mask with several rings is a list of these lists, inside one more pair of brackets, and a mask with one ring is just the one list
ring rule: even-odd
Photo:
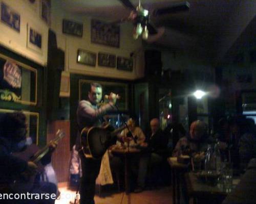
[[145,76],[161,76],[162,60],[158,50],[145,50]]

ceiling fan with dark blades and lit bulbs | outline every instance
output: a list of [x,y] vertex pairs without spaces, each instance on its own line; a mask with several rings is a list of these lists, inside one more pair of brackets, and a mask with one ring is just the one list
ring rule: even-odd
[[[142,35],[143,40],[148,42],[153,42],[164,33],[164,28],[156,28],[152,22],[150,22],[150,16],[160,16],[169,13],[178,13],[182,11],[187,11],[189,9],[188,2],[174,3],[172,6],[164,7],[160,9],[155,9],[151,14],[148,10],[141,6],[141,0],[139,0],[139,5],[137,8],[131,3],[130,0],[119,0],[126,8],[131,9],[131,13],[128,17],[122,18],[115,23],[121,23],[124,21],[132,21],[134,24],[133,37],[137,39]],[[148,38],[150,37],[150,38]]]

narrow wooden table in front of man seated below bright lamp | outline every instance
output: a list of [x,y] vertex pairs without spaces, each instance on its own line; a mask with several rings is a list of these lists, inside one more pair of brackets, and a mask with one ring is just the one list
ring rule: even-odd
[[180,203],[180,179],[184,172],[188,171],[189,164],[177,162],[177,157],[167,158],[172,171],[173,204]]

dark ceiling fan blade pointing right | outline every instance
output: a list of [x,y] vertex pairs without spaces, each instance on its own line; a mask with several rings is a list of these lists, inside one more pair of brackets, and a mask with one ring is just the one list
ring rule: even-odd
[[182,11],[187,11],[189,7],[190,5],[188,2],[181,2],[167,8],[156,9],[153,11],[153,15],[159,16],[159,15],[164,15],[168,13],[178,13]]

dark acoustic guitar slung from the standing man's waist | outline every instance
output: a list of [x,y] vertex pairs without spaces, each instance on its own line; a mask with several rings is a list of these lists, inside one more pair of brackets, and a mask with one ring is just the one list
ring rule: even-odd
[[111,145],[112,139],[125,128],[125,125],[116,130],[111,125],[84,127],[80,134],[84,156],[100,159]]

